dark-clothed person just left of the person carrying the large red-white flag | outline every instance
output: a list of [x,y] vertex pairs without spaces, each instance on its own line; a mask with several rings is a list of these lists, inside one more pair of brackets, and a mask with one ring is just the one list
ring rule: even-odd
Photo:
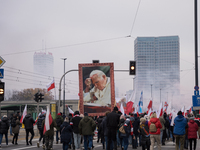
[[43,128],[42,128],[42,122],[43,120],[45,120],[45,116],[46,116],[46,112],[44,111],[39,117],[38,117],[38,121],[37,121],[37,128],[39,130],[39,133],[40,133],[40,138],[39,138],[39,141],[37,142],[37,147],[39,148],[40,147],[40,142],[42,140],[42,147],[44,148],[45,147],[45,137],[43,135]]

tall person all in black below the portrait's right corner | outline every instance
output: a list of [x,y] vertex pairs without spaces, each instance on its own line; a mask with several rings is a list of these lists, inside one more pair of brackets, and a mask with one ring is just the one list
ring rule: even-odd
[[117,130],[119,126],[120,115],[118,114],[118,108],[115,106],[113,111],[107,116],[107,128],[108,128],[108,145],[107,150],[110,150],[112,141],[114,142],[114,150],[117,150]]

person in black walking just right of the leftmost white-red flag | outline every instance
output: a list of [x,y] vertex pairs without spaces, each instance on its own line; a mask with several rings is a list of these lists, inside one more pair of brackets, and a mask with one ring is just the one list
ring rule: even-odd
[[[33,118],[31,117],[31,114],[27,114],[23,120],[23,124],[25,126],[26,129],[26,145],[32,145],[32,139],[34,137],[34,130],[33,130],[33,124],[35,123],[35,120],[33,120]],[[31,138],[30,141],[28,141],[28,136],[29,136],[29,132],[31,133]]]

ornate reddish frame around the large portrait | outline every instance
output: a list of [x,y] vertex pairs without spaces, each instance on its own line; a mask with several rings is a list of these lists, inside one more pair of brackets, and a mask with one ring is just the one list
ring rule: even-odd
[[[114,63],[89,63],[79,64],[79,110],[80,114],[84,114],[83,104],[83,67],[98,67],[98,66],[109,66],[110,67],[110,89],[111,89],[111,107],[110,111],[115,106],[115,86],[114,86]],[[102,113],[88,113],[89,116],[104,116],[105,112]]]

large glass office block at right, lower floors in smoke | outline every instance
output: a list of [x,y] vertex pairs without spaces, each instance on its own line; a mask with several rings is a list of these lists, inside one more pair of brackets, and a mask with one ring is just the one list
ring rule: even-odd
[[170,101],[180,94],[180,50],[178,36],[137,37],[134,41],[136,61],[136,103],[141,91],[143,100]]

